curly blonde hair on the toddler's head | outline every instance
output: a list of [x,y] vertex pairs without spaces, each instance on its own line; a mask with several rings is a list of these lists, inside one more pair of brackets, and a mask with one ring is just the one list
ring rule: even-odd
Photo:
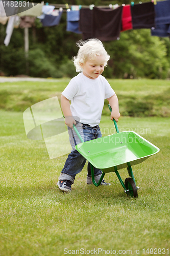
[[77,72],[83,71],[81,63],[85,63],[87,59],[95,60],[96,57],[100,55],[105,56],[104,66],[107,66],[110,56],[99,39],[92,38],[85,41],[80,40],[77,42],[77,46],[80,48],[78,54],[72,58]]

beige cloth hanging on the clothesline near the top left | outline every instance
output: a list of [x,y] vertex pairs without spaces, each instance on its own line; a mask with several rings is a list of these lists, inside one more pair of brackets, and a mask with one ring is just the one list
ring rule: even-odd
[[[31,6],[32,3],[29,4]],[[42,14],[43,2],[41,4],[36,4],[34,7],[30,7],[26,10],[26,7],[19,7],[18,16],[40,16]],[[26,10],[26,11],[25,11]]]

